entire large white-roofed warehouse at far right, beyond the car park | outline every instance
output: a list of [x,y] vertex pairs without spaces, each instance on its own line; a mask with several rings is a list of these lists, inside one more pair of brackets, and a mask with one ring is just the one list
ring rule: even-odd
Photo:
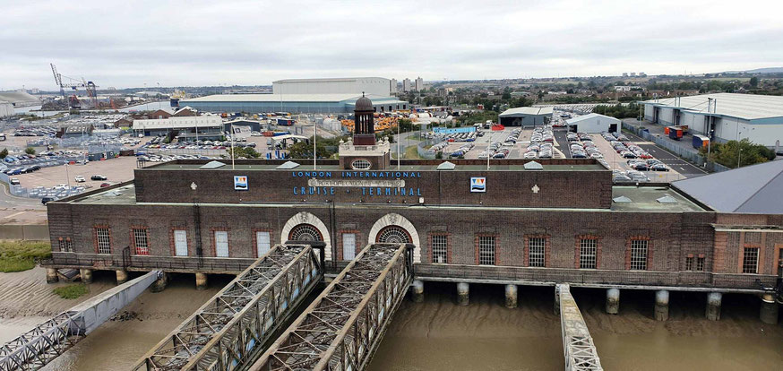
[[644,119],[660,125],[688,125],[716,142],[747,138],[770,148],[783,142],[783,97],[717,93],[640,102]]

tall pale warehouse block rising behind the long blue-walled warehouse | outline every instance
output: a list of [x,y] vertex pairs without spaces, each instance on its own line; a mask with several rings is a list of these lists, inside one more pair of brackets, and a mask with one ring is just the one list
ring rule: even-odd
[[376,97],[391,95],[391,81],[383,77],[343,77],[333,79],[288,79],[272,82],[273,94],[353,94]]

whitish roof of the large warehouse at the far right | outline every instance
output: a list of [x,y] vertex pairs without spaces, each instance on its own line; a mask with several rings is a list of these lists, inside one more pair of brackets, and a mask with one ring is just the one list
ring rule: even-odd
[[715,99],[717,115],[754,120],[759,118],[783,117],[783,97],[737,93],[701,94],[690,97],[650,99],[642,103],[669,108],[683,108],[693,112],[707,112],[707,101]]

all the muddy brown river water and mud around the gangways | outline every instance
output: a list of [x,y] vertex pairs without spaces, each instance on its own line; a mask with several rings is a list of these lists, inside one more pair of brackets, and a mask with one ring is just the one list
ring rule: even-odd
[[[90,296],[113,286],[96,273]],[[145,292],[46,370],[129,369],[152,346],[228,283],[210,276],[194,289],[193,275],[175,275],[162,293]],[[59,285],[62,285],[59,284]],[[44,270],[0,273],[0,341],[73,306],[51,294]],[[762,324],[759,299],[726,295],[720,321],[704,318],[705,294],[675,293],[667,322],[652,319],[651,291],[623,291],[620,314],[603,311],[603,290],[572,289],[607,370],[783,369],[783,326]],[[503,306],[503,287],[471,285],[470,305],[456,305],[453,284],[427,284],[425,301],[406,299],[370,370],[563,369],[554,289],[521,287],[520,307]]]

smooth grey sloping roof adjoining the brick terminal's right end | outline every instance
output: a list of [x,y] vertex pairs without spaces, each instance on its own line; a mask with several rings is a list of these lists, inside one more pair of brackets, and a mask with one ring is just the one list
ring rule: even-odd
[[679,180],[672,185],[717,211],[783,214],[783,160]]

